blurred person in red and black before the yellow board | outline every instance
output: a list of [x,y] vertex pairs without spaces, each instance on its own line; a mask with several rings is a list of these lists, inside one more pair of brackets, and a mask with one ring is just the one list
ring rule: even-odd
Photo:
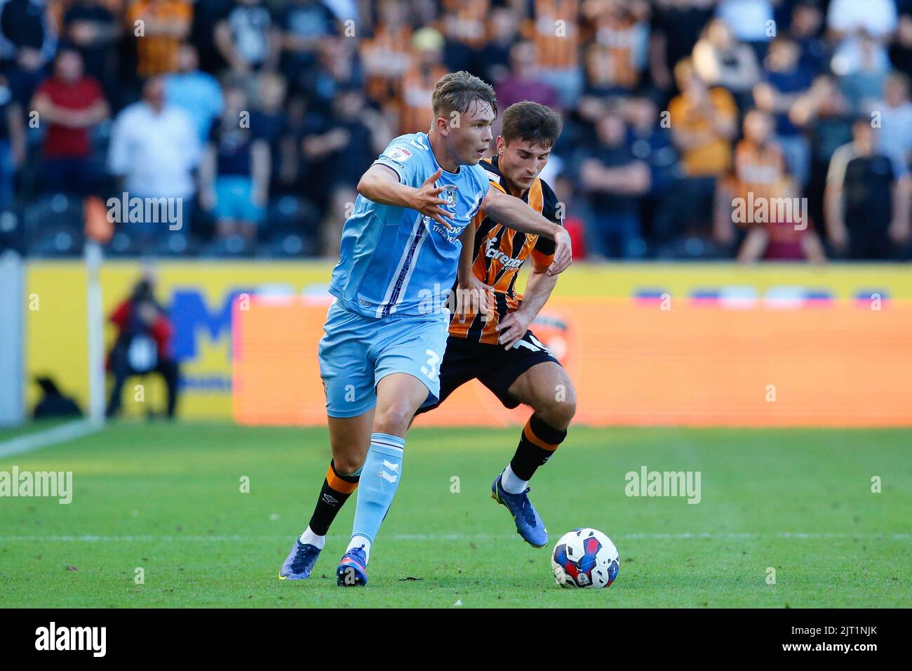
[[172,419],[177,405],[179,374],[171,354],[174,329],[164,308],[155,299],[152,280],[140,279],[130,298],[120,303],[110,320],[118,328],[118,337],[108,358],[114,385],[106,416],[118,414],[123,385],[130,375],[159,372],[168,387],[168,417]]

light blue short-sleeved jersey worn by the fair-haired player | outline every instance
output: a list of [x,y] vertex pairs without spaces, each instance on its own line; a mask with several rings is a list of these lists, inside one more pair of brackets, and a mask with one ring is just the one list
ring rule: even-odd
[[[440,165],[428,133],[400,135],[374,164],[389,166],[399,182],[420,187]],[[341,254],[329,293],[368,317],[425,315],[440,309],[456,278],[462,229],[482,205],[490,183],[481,165],[443,171],[437,183],[453,230],[416,210],[374,203],[363,195],[342,228]]]

